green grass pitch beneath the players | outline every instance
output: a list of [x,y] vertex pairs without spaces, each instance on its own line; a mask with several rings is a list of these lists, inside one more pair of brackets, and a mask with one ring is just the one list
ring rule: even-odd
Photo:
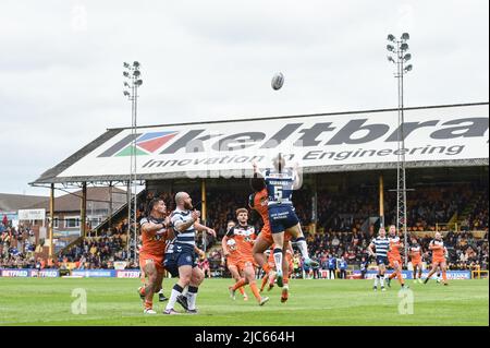
[[[164,279],[170,296],[174,279]],[[399,314],[400,286],[373,292],[371,280],[291,280],[287,303],[280,302],[278,288],[259,307],[252,297],[245,302],[237,292],[230,299],[230,279],[206,279],[197,299],[199,315],[143,314],[136,293],[139,279],[117,278],[0,278],[0,325],[489,325],[489,284],[453,280],[443,287],[409,281],[414,313]],[[73,314],[72,291],[86,290],[87,314]],[[176,304],[175,309],[182,311]]]

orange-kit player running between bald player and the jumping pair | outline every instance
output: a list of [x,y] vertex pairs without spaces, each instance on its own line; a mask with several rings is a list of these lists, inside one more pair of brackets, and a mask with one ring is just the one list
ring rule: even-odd
[[248,211],[246,208],[236,209],[236,219],[238,220],[238,225],[232,227],[223,239],[235,240],[236,251],[238,253],[237,266],[238,269],[243,272],[244,277],[234,286],[229,288],[230,295],[234,298],[235,291],[248,284],[259,305],[264,305],[267,301],[269,301],[269,298],[260,296],[255,279],[255,261],[252,253],[254,241],[256,239],[255,228],[254,226],[248,225]]

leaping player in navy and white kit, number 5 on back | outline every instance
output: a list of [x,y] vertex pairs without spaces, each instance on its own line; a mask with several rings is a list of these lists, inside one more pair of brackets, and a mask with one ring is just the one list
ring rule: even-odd
[[[305,265],[318,265],[308,255],[308,247],[305,236],[303,235],[299,219],[294,212],[293,191],[302,185],[301,177],[296,168],[286,168],[284,157],[279,154],[273,159],[273,168],[259,172],[257,165],[254,164],[254,177],[261,176],[266,181],[268,192],[268,209],[269,221],[274,241],[274,261],[275,261],[275,279],[280,287],[283,286],[283,245],[284,231],[290,232],[296,238]],[[286,265],[287,267],[287,265]]]

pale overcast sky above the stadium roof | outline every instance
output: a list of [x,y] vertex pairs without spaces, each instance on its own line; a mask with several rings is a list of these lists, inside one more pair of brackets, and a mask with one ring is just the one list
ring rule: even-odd
[[[107,128],[395,107],[385,37],[411,34],[407,106],[489,100],[488,0],[1,0],[0,192]],[[285,75],[274,92],[274,72]]]

